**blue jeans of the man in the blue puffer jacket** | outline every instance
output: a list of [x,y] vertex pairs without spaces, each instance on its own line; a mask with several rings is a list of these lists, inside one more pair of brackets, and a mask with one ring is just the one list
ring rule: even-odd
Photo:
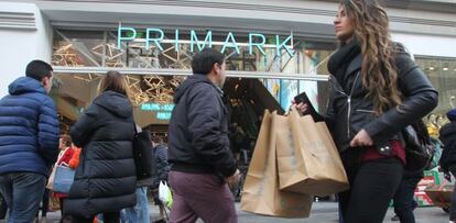
[[30,223],[43,199],[46,177],[33,172],[11,172],[0,176],[0,192],[10,208],[9,223]]

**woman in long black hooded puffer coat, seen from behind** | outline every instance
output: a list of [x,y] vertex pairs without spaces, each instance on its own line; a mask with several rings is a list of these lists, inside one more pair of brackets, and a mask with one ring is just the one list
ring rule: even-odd
[[109,71],[100,94],[73,125],[70,135],[83,148],[75,181],[65,201],[73,222],[120,222],[121,209],[133,207],[137,177],[133,160],[134,122],[123,75]]

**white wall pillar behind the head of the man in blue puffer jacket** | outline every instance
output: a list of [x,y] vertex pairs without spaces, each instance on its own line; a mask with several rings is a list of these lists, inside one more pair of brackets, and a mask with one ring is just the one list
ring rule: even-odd
[[0,96],[32,59],[51,60],[52,30],[34,3],[0,2]]

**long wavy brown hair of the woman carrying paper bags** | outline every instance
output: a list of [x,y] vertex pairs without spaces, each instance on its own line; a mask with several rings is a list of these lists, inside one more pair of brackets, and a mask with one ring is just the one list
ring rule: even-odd
[[379,115],[401,103],[388,14],[377,0],[340,0],[340,5],[354,23],[355,40],[361,46],[362,86]]

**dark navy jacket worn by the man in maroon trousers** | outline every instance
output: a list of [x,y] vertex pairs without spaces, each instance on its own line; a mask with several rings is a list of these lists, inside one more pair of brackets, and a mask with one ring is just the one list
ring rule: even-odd
[[204,75],[193,75],[177,88],[169,133],[172,170],[224,177],[235,174],[221,96],[221,89]]

